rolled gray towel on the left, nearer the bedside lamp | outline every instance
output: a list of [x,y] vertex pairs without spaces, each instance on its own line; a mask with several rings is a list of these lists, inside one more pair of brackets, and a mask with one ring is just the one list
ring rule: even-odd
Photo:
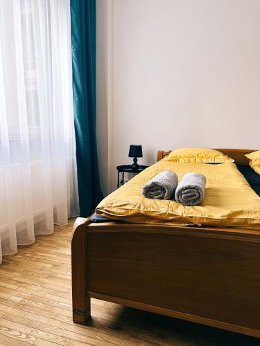
[[173,171],[165,170],[144,185],[141,192],[144,194],[144,197],[150,199],[171,199],[174,197],[177,183],[177,174]]

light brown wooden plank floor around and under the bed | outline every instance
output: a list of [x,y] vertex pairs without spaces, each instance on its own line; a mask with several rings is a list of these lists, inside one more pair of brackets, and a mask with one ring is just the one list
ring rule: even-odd
[[92,300],[92,320],[71,317],[73,220],[20,246],[0,265],[1,345],[259,345],[254,338]]

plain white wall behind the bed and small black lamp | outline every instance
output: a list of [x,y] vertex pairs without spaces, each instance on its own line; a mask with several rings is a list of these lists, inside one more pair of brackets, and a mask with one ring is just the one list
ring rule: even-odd
[[115,166],[157,149],[260,149],[260,1],[114,0]]

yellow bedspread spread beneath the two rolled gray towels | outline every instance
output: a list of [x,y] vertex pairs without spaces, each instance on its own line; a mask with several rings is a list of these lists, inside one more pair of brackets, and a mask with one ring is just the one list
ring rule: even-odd
[[[188,172],[205,174],[205,199],[200,206],[188,207],[175,201],[143,197],[142,186],[163,170],[173,170],[179,181]],[[250,188],[234,163],[210,165],[159,161],[103,199],[96,212],[135,223],[207,224],[260,229],[260,197]]]

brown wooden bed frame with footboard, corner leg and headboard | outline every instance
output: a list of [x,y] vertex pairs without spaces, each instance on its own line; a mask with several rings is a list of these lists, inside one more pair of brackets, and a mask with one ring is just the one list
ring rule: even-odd
[[[218,150],[239,165],[254,151]],[[260,231],[78,218],[71,255],[76,323],[97,298],[260,337]]]

